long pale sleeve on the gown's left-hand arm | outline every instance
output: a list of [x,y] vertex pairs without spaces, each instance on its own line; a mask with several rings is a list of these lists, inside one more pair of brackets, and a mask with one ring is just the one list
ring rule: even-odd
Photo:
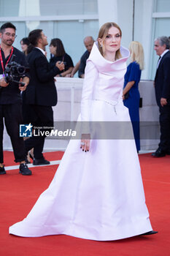
[[85,78],[82,87],[82,100],[81,100],[81,121],[82,133],[90,133],[90,111],[91,102],[93,99],[93,89],[95,86],[96,78],[98,77],[98,70],[92,61],[87,61],[85,67]]

